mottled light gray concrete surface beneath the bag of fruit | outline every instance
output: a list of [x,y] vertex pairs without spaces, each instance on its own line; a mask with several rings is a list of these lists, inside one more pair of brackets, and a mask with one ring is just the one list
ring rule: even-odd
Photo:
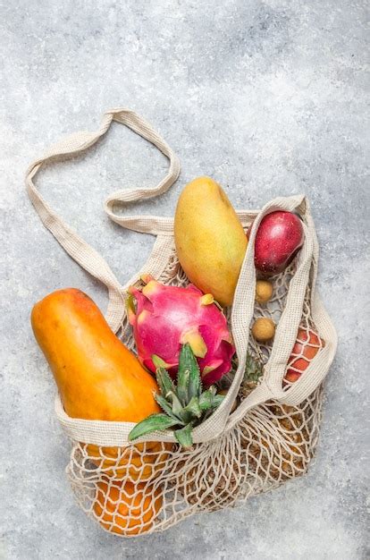
[[[369,557],[366,17],[365,0],[2,4],[4,558]],[[181,157],[180,181],[141,210],[171,215],[198,174],[221,182],[239,208],[307,193],[321,244],[319,288],[340,339],[306,478],[135,541],[105,534],[73,503],[55,385],[29,327],[32,304],[63,286],[105,307],[105,290],[41,225],[23,177],[47,145],[94,130],[113,106],[145,115]],[[123,282],[153,239],[110,224],[103,201],[122,187],[155,184],[165,169],[155,148],[115,125],[86,157],[48,167],[38,184]]]

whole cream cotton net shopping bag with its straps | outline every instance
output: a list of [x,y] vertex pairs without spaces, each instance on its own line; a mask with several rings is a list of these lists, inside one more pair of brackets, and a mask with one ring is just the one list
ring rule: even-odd
[[[168,174],[156,188],[115,192],[105,211],[115,223],[155,236],[147,262],[127,284],[119,280],[96,250],[84,242],[46,204],[33,182],[46,162],[74,156],[99,140],[113,122],[122,123],[160,149],[169,159]],[[124,344],[135,350],[125,311],[130,285],[150,274],[164,284],[189,284],[176,256],[173,219],[156,216],[122,216],[117,207],[167,191],[180,174],[172,149],[139,115],[126,109],[105,113],[97,132],[77,132],[64,138],[29,166],[29,197],[46,228],[81,267],[108,289],[105,318]],[[305,241],[296,259],[282,274],[273,276],[273,299],[264,306],[255,301],[254,241],[263,216],[289,210],[302,218]],[[235,374],[219,408],[193,430],[194,445],[184,450],[171,431],[156,432],[129,443],[134,424],[72,419],[59,395],[55,412],[71,440],[67,477],[80,507],[107,531],[122,537],[163,531],[201,512],[238,505],[260,492],[280,486],[307,471],[319,435],[322,384],[336,350],[332,322],[315,290],[318,245],[306,197],[292,196],[268,202],[261,210],[239,210],[249,235],[232,308],[225,310],[236,347]],[[249,335],[256,318],[273,318],[273,343],[258,344]],[[303,355],[292,353],[299,332],[315,348],[295,383],[284,381]],[[310,336],[315,333],[317,336]],[[264,364],[255,384],[246,383],[246,361],[251,356]],[[250,381],[250,380],[249,380]],[[238,406],[235,409],[234,403]]]

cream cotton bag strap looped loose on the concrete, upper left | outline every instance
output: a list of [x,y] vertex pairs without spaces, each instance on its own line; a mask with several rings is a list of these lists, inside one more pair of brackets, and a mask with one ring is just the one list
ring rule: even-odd
[[109,301],[105,318],[109,326],[114,332],[117,332],[122,325],[124,316],[124,301],[122,285],[114,276],[113,271],[106,263],[105,259],[91,247],[87,242],[73,231],[73,229],[64,223],[63,219],[58,216],[55,211],[50,208],[46,200],[38,192],[33,182],[38,171],[47,161],[53,160],[60,156],[71,156],[78,154],[90,146],[95,144],[102,136],[105,135],[113,123],[124,124],[132,131],[142,136],[158,148],[165,157],[170,161],[168,173],[164,179],[154,188],[147,189],[130,189],[128,191],[116,192],[105,202],[105,211],[108,216],[122,227],[142,233],[168,234],[172,230],[172,222],[169,218],[156,216],[117,216],[114,214],[114,203],[130,203],[139,199],[148,199],[156,197],[167,191],[176,181],[180,174],[180,162],[178,157],[172,151],[172,148],[156,133],[149,123],[141,116],[128,109],[112,109],[103,115],[102,122],[97,132],[75,132],[70,136],[63,138],[54,146],[49,148],[46,153],[29,165],[26,174],[26,186],[29,193],[29,199],[40,216],[41,221],[46,228],[53,233],[57,242],[70,255],[72,259],[79,263],[80,267],[88,271],[105,284],[108,289]]

